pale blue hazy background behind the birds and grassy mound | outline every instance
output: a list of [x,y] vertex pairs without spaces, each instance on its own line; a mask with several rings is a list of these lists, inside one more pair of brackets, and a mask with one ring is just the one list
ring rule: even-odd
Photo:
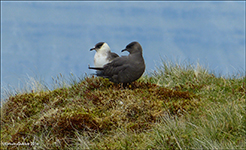
[[162,59],[245,72],[245,2],[1,2],[1,88],[91,74],[90,48],[102,41],[119,55],[138,41],[145,73]]

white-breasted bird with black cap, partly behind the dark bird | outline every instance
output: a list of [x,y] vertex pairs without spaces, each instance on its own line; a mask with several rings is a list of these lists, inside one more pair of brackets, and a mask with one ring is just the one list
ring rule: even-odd
[[90,51],[95,50],[94,56],[94,66],[103,67],[103,65],[111,62],[114,58],[119,57],[116,53],[112,53],[110,47],[105,42],[99,42],[95,45],[94,48],[91,48]]

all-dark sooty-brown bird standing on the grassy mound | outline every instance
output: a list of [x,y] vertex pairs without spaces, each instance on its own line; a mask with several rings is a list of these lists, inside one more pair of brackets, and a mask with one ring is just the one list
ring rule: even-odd
[[114,83],[131,83],[139,79],[145,71],[142,46],[133,41],[121,52],[128,51],[128,56],[117,57],[103,67],[90,67],[89,69],[99,70],[97,76],[108,78]]

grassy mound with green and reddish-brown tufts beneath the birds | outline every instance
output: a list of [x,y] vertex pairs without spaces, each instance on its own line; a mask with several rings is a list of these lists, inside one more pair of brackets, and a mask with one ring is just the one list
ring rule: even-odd
[[[10,95],[3,149],[245,149],[245,76],[163,63],[127,87],[73,79]],[[39,85],[39,83],[34,84]]]

